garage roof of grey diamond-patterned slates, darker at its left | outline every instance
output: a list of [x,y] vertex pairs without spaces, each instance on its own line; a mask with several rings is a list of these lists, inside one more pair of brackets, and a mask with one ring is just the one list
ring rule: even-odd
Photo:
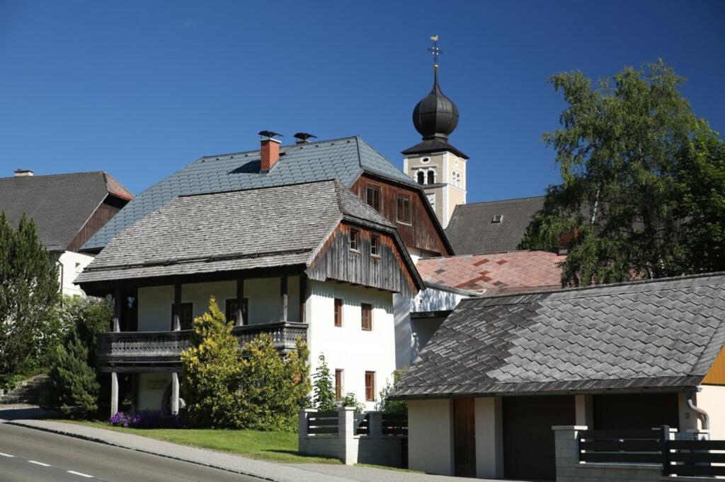
[[697,386],[725,344],[725,274],[462,300],[397,397]]

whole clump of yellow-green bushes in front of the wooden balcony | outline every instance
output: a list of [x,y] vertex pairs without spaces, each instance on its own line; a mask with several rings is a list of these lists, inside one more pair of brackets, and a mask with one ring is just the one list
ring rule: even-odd
[[233,325],[214,297],[194,320],[192,346],[181,355],[188,418],[195,426],[294,430],[308,404],[309,352],[302,339],[282,357],[269,334],[239,350]]

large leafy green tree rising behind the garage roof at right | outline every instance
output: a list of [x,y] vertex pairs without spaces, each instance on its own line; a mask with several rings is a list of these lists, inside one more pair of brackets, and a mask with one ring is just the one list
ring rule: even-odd
[[679,93],[684,79],[660,60],[595,88],[581,72],[550,82],[568,103],[544,133],[562,182],[520,248],[568,234],[564,285],[725,269],[725,150]]

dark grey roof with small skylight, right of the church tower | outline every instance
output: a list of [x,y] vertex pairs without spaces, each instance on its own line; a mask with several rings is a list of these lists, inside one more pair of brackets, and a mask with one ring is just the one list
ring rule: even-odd
[[[459,204],[446,234],[457,255],[518,250],[531,218],[543,206],[544,196]],[[496,214],[502,214],[503,221],[492,223]]]

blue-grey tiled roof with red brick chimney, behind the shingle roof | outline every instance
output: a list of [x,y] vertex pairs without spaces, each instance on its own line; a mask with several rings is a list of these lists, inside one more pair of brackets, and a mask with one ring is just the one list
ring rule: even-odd
[[[103,228],[83,250],[100,250],[119,232],[179,195],[292,185],[339,179],[352,185],[366,171],[415,185],[392,162],[358,137],[282,146],[277,164],[260,174],[260,151],[204,156],[144,190]],[[416,185],[417,186],[417,185]]]

